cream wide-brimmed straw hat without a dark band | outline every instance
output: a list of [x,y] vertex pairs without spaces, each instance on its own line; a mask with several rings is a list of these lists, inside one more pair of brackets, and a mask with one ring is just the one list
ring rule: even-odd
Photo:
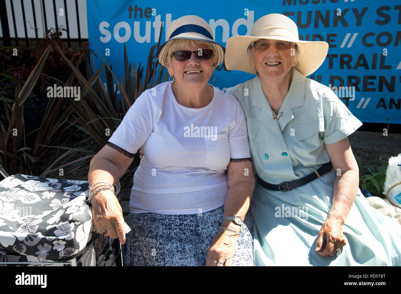
[[295,69],[303,76],[309,76],[324,62],[328,44],[322,41],[300,41],[298,27],[289,17],[272,13],[259,18],[253,24],[250,36],[232,36],[228,39],[225,66],[228,70],[242,70],[256,74],[249,64],[248,48],[259,39],[295,42],[298,47]]

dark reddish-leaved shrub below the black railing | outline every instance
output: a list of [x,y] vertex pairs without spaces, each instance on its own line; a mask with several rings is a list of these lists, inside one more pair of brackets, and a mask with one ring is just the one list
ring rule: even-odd
[[[24,118],[30,122],[25,126],[26,132],[32,132],[41,124],[49,100],[43,94],[46,92],[47,86],[53,85],[55,82],[65,84],[71,74],[71,69],[67,66],[65,60],[61,58],[55,45],[59,46],[73,64],[76,64],[81,70],[85,70],[85,64],[79,60],[83,60],[83,56],[90,54],[89,43],[82,42],[78,49],[72,50],[61,39],[64,31],[65,29],[62,26],[51,28],[45,33],[45,38],[36,40],[34,45],[30,47],[11,46],[0,48],[0,60],[2,60],[3,65],[0,73],[0,99],[6,99],[8,103],[14,101],[17,82],[20,81],[21,86],[24,86],[25,81],[34,71],[35,65],[38,64],[44,52],[49,50],[40,72],[40,78],[36,80],[35,87],[29,92],[29,99],[23,102]],[[64,105],[65,107],[66,104]],[[4,116],[4,111],[3,104],[0,103],[0,120],[2,120],[3,124],[6,124],[8,122]]]

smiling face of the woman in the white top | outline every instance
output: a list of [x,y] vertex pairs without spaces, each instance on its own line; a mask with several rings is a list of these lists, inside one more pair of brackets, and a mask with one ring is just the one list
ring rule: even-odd
[[195,52],[199,49],[212,49],[213,47],[207,42],[196,42],[193,40],[175,40],[166,56],[167,70],[170,76],[174,76],[175,81],[180,86],[206,86],[209,78],[213,74],[216,67],[216,57],[213,55],[210,59],[199,60],[192,53],[190,58],[185,61],[178,61],[172,56],[172,52],[180,50],[188,50]]

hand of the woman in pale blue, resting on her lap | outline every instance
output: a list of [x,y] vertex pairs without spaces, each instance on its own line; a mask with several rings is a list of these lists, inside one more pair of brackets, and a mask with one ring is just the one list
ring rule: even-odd
[[342,222],[335,218],[328,218],[318,234],[315,251],[322,256],[334,256],[337,249],[346,244],[342,234]]

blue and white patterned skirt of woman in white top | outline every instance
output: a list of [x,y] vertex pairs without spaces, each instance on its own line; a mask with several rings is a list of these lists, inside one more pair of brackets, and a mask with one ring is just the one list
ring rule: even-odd
[[[124,266],[205,266],[224,206],[202,214],[129,214],[132,231],[123,245]],[[241,226],[231,266],[253,266],[253,220]]]

